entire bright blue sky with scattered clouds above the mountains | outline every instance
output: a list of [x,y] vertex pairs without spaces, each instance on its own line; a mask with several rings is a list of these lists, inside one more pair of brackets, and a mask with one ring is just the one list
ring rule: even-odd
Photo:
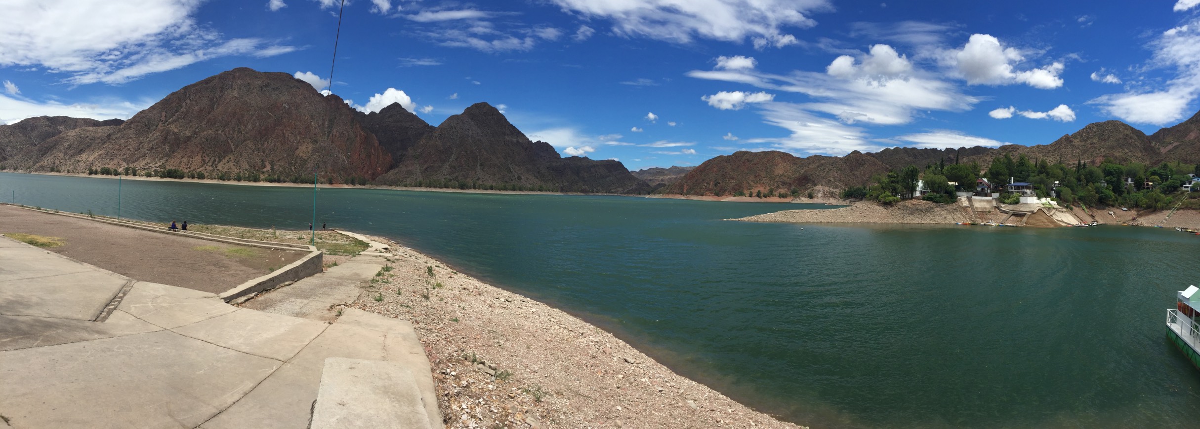
[[[325,89],[340,6],[6,4],[0,123],[128,117],[242,66]],[[1200,0],[353,0],[331,90],[432,125],[488,102],[563,155],[630,169],[1048,144],[1200,109]]]

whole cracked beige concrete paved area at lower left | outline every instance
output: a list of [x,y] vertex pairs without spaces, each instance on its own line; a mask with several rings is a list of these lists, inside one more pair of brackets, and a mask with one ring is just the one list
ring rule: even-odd
[[355,256],[263,312],[0,237],[0,428],[442,428],[412,325],[324,313],[317,286],[344,298],[383,264]]

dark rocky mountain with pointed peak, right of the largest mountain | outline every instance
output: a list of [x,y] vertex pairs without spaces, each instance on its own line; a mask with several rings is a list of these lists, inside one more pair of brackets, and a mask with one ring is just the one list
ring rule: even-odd
[[[412,135],[412,134],[409,134]],[[487,103],[448,117],[413,144],[379,185],[599,193],[646,193],[649,186],[616,161],[562,158],[530,141]]]

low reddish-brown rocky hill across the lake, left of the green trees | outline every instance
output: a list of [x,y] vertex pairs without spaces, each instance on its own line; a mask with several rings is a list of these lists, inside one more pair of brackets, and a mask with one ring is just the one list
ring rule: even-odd
[[660,191],[684,195],[733,195],[736,192],[808,192],[826,197],[851,186],[865,185],[876,174],[890,170],[870,155],[853,152],[845,157],[810,156],[800,158],[787,152],[738,151],[718,156]]

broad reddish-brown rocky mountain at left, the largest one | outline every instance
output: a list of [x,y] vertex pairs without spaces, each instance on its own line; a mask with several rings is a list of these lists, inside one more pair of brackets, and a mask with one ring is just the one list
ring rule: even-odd
[[[115,122],[115,121],[114,121]],[[10,168],[134,167],[373,179],[391,156],[337,96],[287,73],[235,68],[187,85],[128,121],[74,128],[10,156]]]

